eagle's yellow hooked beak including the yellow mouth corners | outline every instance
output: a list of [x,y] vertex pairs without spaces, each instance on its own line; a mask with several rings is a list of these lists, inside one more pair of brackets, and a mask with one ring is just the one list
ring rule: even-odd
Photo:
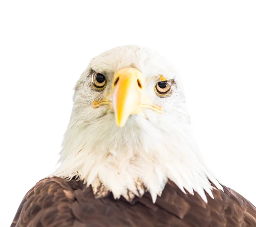
[[94,101],[92,107],[109,105],[109,109],[114,111],[118,127],[124,126],[130,115],[142,113],[144,108],[163,113],[162,107],[152,104],[147,99],[144,87],[145,77],[139,70],[123,68],[114,76],[111,100],[107,95],[98,102]]

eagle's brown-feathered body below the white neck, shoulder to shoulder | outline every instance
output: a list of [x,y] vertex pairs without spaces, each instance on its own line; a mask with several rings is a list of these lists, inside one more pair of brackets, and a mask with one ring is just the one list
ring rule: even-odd
[[11,227],[256,227],[256,208],[235,191],[215,199],[184,194],[173,182],[152,203],[149,193],[128,202],[95,199],[83,182],[43,179],[24,197]]

